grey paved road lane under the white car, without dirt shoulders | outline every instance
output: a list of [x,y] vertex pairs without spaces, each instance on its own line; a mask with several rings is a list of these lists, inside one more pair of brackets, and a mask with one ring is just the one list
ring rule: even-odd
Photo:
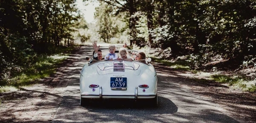
[[[108,44],[101,46],[107,49]],[[80,106],[79,76],[86,56],[92,55],[92,46],[83,46],[72,55],[76,59],[71,70],[69,83],[63,99],[52,120],[56,122],[238,122],[228,111],[208,97],[193,93],[173,71],[155,68],[158,76],[159,104],[152,108],[135,101],[110,100]]]

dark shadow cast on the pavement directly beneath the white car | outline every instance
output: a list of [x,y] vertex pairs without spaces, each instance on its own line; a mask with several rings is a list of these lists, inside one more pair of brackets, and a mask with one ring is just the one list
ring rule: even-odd
[[[136,102],[135,100],[102,100],[91,102],[88,106],[84,106],[90,112],[104,112],[113,110],[118,113],[118,110],[124,112],[129,109],[134,113],[147,114],[172,114],[178,111],[177,106],[165,97],[158,96],[158,105],[150,106],[146,101]],[[136,114],[137,114],[136,113]],[[131,114],[127,112],[127,114]]]

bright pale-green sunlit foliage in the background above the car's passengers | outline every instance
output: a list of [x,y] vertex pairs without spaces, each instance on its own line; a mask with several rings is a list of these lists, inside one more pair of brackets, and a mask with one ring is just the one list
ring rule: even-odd
[[78,37],[85,42],[127,43],[129,28],[125,12],[117,12],[115,7],[100,3],[96,7],[95,23],[88,23],[88,29],[79,29]]

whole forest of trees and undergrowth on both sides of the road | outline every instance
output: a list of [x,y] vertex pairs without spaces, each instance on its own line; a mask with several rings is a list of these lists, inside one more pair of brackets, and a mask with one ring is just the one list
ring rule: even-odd
[[[65,52],[76,37],[170,49],[162,59],[185,55],[191,69],[239,72],[256,81],[255,0],[84,0],[100,3],[94,23],[75,2],[0,2],[0,86],[40,57]],[[223,62],[209,64],[214,59]]]

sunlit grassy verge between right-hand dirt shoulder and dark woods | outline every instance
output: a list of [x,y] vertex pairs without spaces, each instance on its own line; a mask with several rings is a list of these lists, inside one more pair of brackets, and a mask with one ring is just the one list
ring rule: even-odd
[[[208,65],[212,65],[210,63],[205,64],[201,62],[201,58],[199,55],[183,55],[177,56],[176,58],[171,57],[171,51],[165,50],[162,51],[160,48],[149,48],[149,47],[139,47],[137,45],[133,45],[133,50],[140,51],[146,53],[146,55],[152,58],[152,61],[157,64],[162,64],[164,66],[172,68],[172,70],[191,72],[193,74],[206,74],[206,78],[197,79],[194,78],[195,81],[200,83],[212,83],[215,81],[220,84],[225,84],[234,89],[240,89],[246,92],[256,92],[256,79],[254,76],[245,75],[246,69],[237,68],[235,71],[226,71],[218,68],[222,67],[215,65],[214,67],[208,67]],[[216,59],[217,58],[217,59]],[[216,61],[212,61],[214,64],[220,63],[223,60],[219,58],[219,56],[215,56]],[[233,67],[231,65],[231,67]],[[255,69],[252,69],[253,71]],[[249,72],[251,73],[251,72]],[[253,73],[252,73],[253,74]]]

